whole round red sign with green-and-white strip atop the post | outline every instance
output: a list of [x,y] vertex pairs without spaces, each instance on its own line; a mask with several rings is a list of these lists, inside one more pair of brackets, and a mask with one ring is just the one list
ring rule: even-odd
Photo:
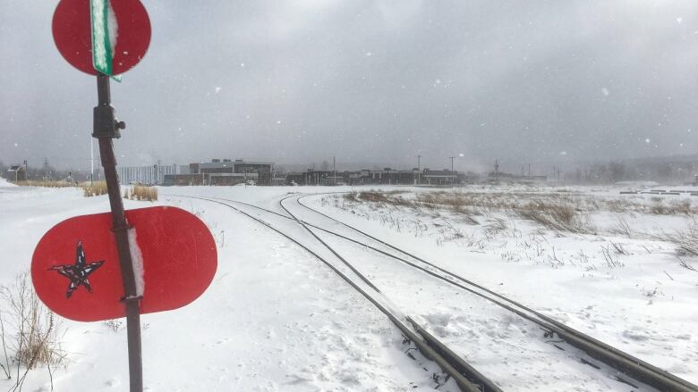
[[52,30],[58,52],[90,75],[129,71],[150,44],[150,21],[139,0],[61,0]]

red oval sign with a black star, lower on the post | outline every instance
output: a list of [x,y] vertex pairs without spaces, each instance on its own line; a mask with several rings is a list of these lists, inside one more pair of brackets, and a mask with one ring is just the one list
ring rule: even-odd
[[[132,225],[140,313],[190,304],[217,269],[216,243],[192,213],[174,207],[126,211]],[[75,321],[123,317],[123,283],[111,213],[70,218],[48,230],[31,260],[31,279],[44,304]]]

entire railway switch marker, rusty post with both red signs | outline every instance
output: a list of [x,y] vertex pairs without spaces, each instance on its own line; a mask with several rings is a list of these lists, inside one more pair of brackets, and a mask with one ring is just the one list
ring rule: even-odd
[[[140,313],[173,310],[200,296],[216,273],[216,243],[206,225],[183,210],[151,207],[123,211],[113,139],[121,137],[120,130],[126,125],[115,118],[109,79],[119,80],[148,50],[150,21],[143,4],[139,0],[60,0],[52,31],[64,59],[97,76],[92,138],[99,143],[111,220],[109,213],[84,215],[48,230],[32,256],[32,283],[44,304],[71,320],[125,316],[130,391],[142,392]],[[157,230],[153,230],[156,225]],[[107,233],[109,227],[114,241]],[[183,232],[182,227],[187,230]],[[136,229],[142,229],[138,236]],[[157,238],[153,238],[154,232]],[[75,255],[74,264],[65,263],[69,254]],[[183,265],[192,260],[197,263],[195,271],[169,268],[168,263]],[[67,291],[65,278],[70,279]],[[146,285],[151,291],[146,291]]]

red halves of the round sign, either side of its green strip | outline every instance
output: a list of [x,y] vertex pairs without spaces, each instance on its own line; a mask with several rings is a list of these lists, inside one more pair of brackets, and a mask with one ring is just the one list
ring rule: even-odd
[[[139,0],[111,2],[116,17],[117,38],[112,70],[115,75],[129,71],[145,56],[150,44],[150,20]],[[92,32],[89,0],[61,0],[55,7],[55,46],[64,59],[80,71],[97,75],[92,66]]]

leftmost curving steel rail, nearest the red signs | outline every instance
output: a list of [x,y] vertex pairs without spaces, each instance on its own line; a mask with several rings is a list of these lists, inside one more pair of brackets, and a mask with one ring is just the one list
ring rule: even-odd
[[[174,196],[174,195],[173,195]],[[293,242],[297,246],[301,246],[302,249],[304,249],[306,252],[312,254],[315,258],[317,258],[320,262],[324,263],[327,265],[332,271],[334,271],[337,275],[339,275],[342,279],[344,279],[350,286],[352,286],[355,290],[357,290],[359,293],[362,294],[366,299],[369,300],[369,302],[373,305],[375,305],[381,313],[384,313],[388,320],[392,321],[393,324],[396,325],[398,329],[404,334],[405,338],[409,339],[414,343],[415,346],[420,350],[421,354],[423,354],[427,359],[430,359],[434,361],[435,363],[438,364],[438,366],[447,373],[447,375],[455,380],[455,383],[458,385],[458,388],[461,388],[463,392],[502,392],[500,388],[497,387],[496,384],[494,384],[492,381],[489,379],[486,379],[482,377],[481,379],[469,379],[466,375],[462,374],[459,369],[466,367],[472,368],[469,364],[464,363],[464,361],[460,358],[458,358],[459,361],[453,362],[453,358],[450,357],[445,357],[444,355],[440,354],[438,349],[435,349],[434,347],[439,347],[439,346],[444,346],[443,343],[438,341],[437,338],[430,337],[430,338],[425,338],[423,335],[418,336],[415,332],[413,332],[412,329],[409,329],[407,325],[404,324],[403,321],[400,321],[398,317],[391,312],[390,310],[387,309],[387,307],[384,304],[381,304],[376,298],[373,296],[370,296],[366,290],[361,288],[356,282],[354,282],[352,279],[350,279],[344,272],[340,271],[339,269],[336,268],[332,263],[329,263],[325,258],[317,254],[316,252],[312,251],[309,247],[304,246],[300,241],[297,241],[296,239],[292,238],[291,236],[287,235],[285,232],[281,231],[280,229],[277,229],[273,227],[271,224],[269,224],[267,221],[263,221],[260,218],[256,218],[252,216],[250,213],[246,213],[242,211],[239,208],[234,207],[233,205],[226,204],[225,202],[221,202],[215,199],[210,199],[206,197],[198,197],[198,196],[175,196],[175,197],[187,197],[187,198],[195,198],[195,199],[200,199],[200,200],[206,200],[211,203],[217,203],[217,204],[223,204],[226,205],[227,207],[233,209],[234,211],[238,213],[242,213],[246,217],[250,218],[252,221],[256,221],[264,226],[266,226],[268,229],[271,229],[277,234],[283,236],[284,238],[287,238],[291,242]],[[279,214],[280,215],[280,214]],[[283,216],[283,215],[281,215]],[[288,218],[288,217],[285,217]],[[413,324],[413,327],[417,330],[423,330],[423,328],[414,322],[411,318],[407,318],[407,321]],[[474,369],[473,369],[474,370]],[[474,373],[469,373],[468,375],[472,374],[480,374],[479,372],[474,372]]]

